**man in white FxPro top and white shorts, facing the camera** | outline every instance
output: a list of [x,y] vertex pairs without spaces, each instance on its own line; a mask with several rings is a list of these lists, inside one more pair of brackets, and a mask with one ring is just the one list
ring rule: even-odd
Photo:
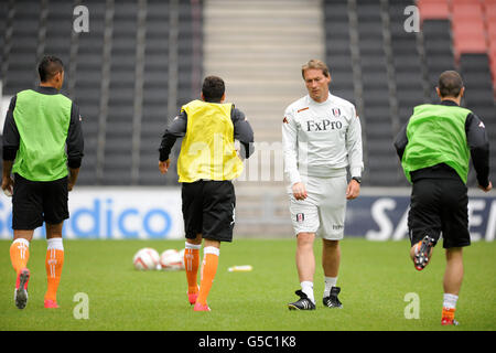
[[[336,287],[339,239],[343,238],[346,199],[356,199],[360,190],[362,127],[354,105],[330,93],[331,75],[323,62],[312,60],[303,65],[302,76],[309,95],[285,109],[282,122],[284,174],[290,182],[288,193],[298,236],[296,267],[302,286],[302,290],[296,291],[301,299],[289,308],[315,308],[315,235],[323,238],[324,306],[341,308]],[[347,168],[352,176],[349,183]]]

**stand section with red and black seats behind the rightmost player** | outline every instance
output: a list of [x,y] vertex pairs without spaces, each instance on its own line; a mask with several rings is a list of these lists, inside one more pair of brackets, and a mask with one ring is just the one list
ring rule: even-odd
[[[495,0],[422,0],[418,1],[424,42],[424,64],[429,77],[431,101],[438,98],[435,78],[444,69],[457,69],[465,83],[463,105],[473,109],[485,122],[490,141],[496,140],[494,75],[492,77],[492,40],[496,11]],[[496,146],[490,145],[490,165],[496,162]],[[496,171],[492,168],[490,179]],[[475,184],[471,169],[468,183]]]

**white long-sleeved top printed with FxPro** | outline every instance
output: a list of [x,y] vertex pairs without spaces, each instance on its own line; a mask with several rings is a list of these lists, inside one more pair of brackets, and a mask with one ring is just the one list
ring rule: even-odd
[[362,126],[355,106],[330,93],[324,103],[309,95],[292,103],[282,121],[284,175],[293,185],[301,175],[362,176]]

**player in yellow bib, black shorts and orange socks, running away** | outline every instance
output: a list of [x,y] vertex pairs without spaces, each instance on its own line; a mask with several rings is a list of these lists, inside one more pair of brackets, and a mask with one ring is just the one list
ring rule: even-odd
[[[177,159],[182,183],[183,218],[186,236],[184,264],[187,297],[195,311],[211,311],[207,296],[217,271],[220,242],[233,240],[236,195],[233,179],[242,172],[241,158],[254,152],[254,131],[234,104],[224,103],[225,84],[220,77],[203,82],[202,100],[193,100],[166,128],[160,146],[159,169],[165,174],[170,153],[183,137]],[[235,139],[240,141],[239,156]],[[204,258],[200,288],[200,248]]]

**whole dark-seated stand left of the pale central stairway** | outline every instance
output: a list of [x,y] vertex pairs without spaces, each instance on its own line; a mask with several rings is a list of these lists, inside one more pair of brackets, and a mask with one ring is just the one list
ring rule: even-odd
[[[88,33],[73,31],[73,10],[79,4],[89,10]],[[78,183],[176,183],[173,173],[161,178],[157,172],[157,156],[168,120],[200,92],[202,1],[21,0],[0,6],[4,96],[37,84],[35,68],[43,54],[65,63],[63,93],[79,105],[86,138]],[[177,43],[171,49],[168,23],[174,14]],[[170,72],[177,73],[172,84]]]

